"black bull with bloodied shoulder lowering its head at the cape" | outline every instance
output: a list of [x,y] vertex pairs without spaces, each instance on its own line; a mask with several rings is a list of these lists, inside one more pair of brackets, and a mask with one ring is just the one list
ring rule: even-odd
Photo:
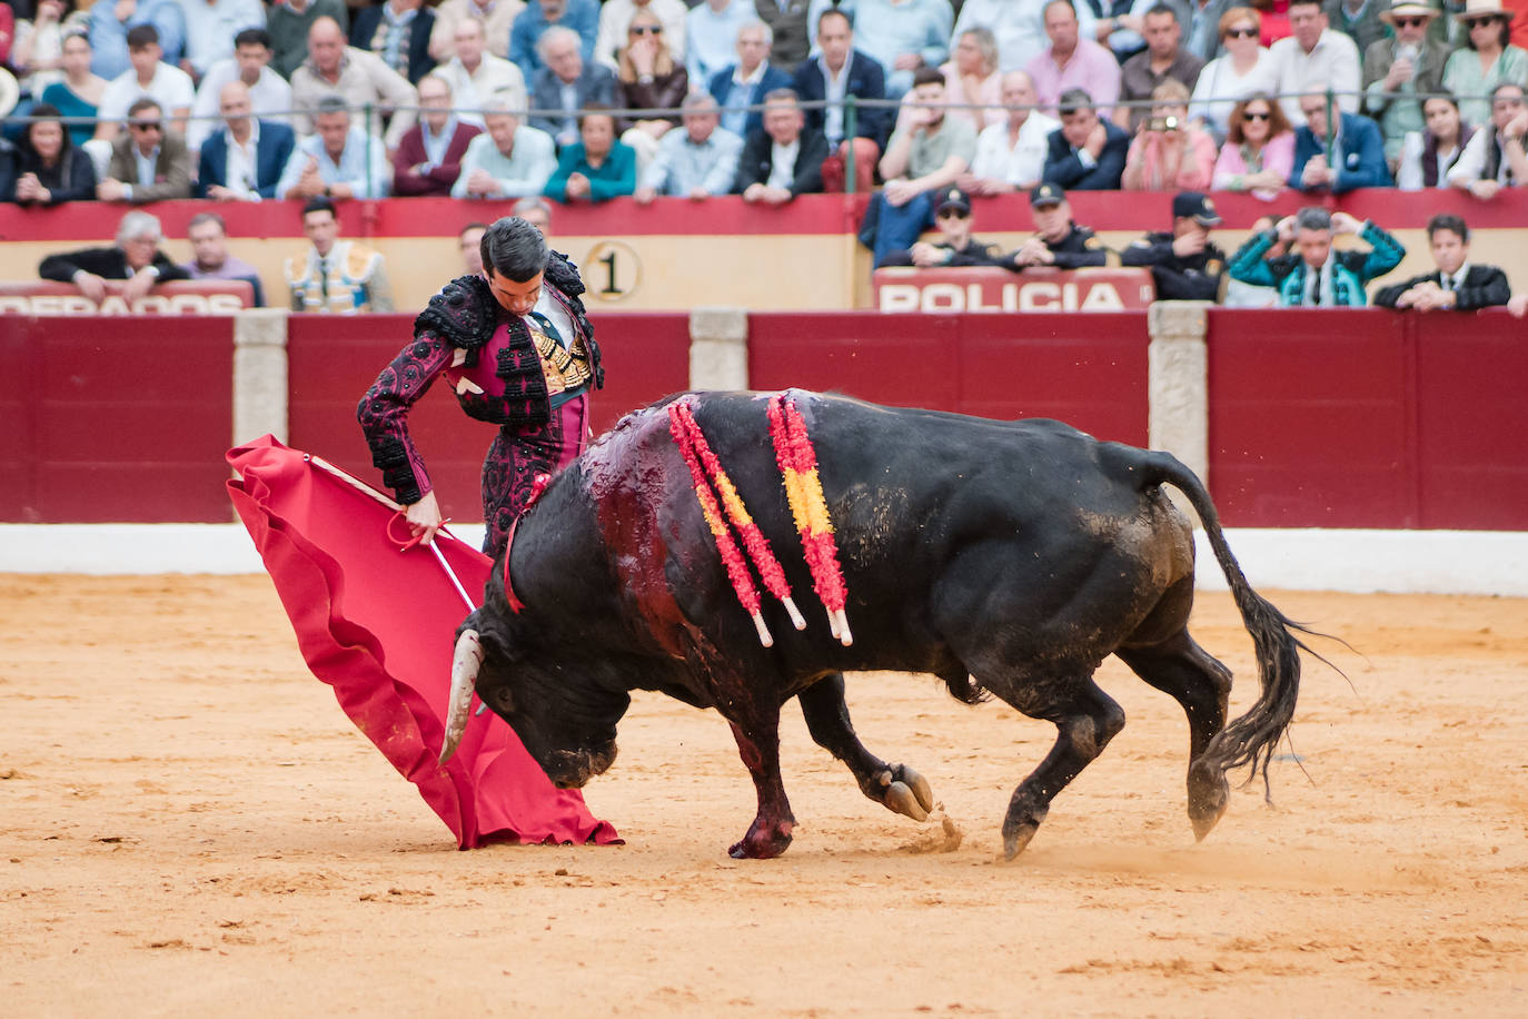
[[[455,727],[443,756],[475,683],[553,782],[582,787],[614,761],[630,691],[662,691],[732,724],[758,790],[758,816],[732,856],[773,857],[795,825],[779,772],[781,704],[799,700],[811,738],[868,797],[921,819],[927,784],[860,744],[843,672],[932,672],[961,701],[993,695],[1057,729],[1008,802],[1012,857],[1125,726],[1093,681],[1114,654],[1187,713],[1198,837],[1225,810],[1227,770],[1267,770],[1294,713],[1302,645],[1291,631],[1300,626],[1247,584],[1193,472],[1050,420],[795,397],[836,530],[853,646],[830,636],[811,596],[766,397],[692,394],[695,420],[802,603],[805,631],[766,594],[775,645],[761,646],[669,435],[666,403],[654,405],[616,425],[521,518],[509,573],[524,607],[510,610],[501,562],[483,608],[458,629]],[[1262,694],[1229,726],[1230,669],[1187,631],[1193,533],[1163,484],[1198,512],[1253,637]]]

